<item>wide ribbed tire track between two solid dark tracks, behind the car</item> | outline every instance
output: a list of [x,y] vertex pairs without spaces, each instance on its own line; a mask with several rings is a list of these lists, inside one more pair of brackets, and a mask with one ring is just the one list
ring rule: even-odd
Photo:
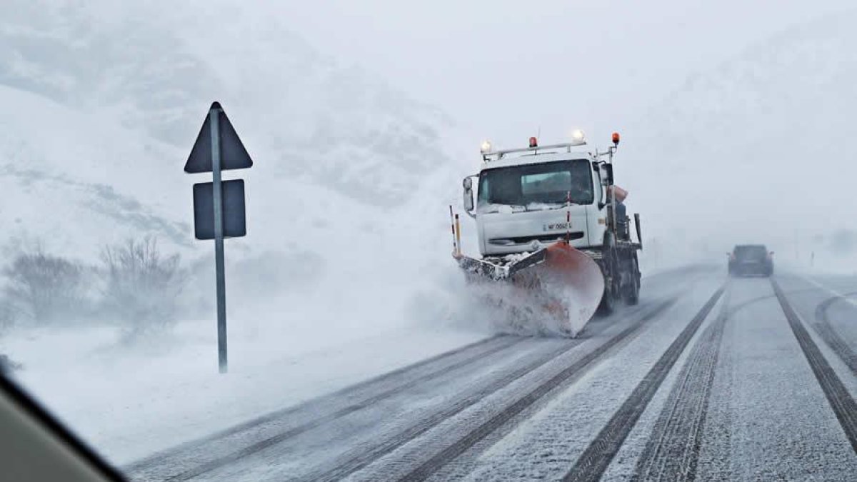
[[[764,297],[769,298],[769,297]],[[754,303],[759,299],[751,300]],[[723,331],[731,312],[729,291],[717,319],[693,346],[667,403],[655,423],[632,480],[693,480],[705,418],[708,414],[711,387],[717,359],[720,356]],[[749,304],[748,303],[748,304]]]

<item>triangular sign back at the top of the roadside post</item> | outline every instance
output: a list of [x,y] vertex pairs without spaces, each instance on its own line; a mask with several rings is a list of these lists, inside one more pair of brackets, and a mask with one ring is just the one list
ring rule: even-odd
[[[219,124],[220,138],[220,170],[244,169],[253,166],[253,160],[243,142],[238,138],[235,128],[226,117],[226,112],[220,107],[219,102],[214,102],[210,111],[218,112],[217,124]],[[207,116],[202,123],[200,134],[196,136],[194,148],[190,149],[188,162],[184,165],[184,172],[195,174],[198,172],[213,172],[212,166],[212,118]]]

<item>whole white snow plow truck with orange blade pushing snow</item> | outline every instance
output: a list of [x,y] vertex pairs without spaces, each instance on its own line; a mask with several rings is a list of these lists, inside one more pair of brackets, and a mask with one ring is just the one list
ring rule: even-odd
[[469,284],[542,333],[577,336],[596,313],[638,303],[639,214],[635,242],[627,192],[614,185],[619,134],[611,140],[603,152],[585,148],[581,130],[571,142],[546,146],[536,137],[506,150],[483,142],[479,172],[464,178],[464,211],[476,220],[480,257],[462,254],[450,207],[452,256]]

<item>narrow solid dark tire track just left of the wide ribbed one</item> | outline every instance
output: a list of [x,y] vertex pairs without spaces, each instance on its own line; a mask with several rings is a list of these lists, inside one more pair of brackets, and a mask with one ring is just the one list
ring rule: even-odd
[[675,365],[676,360],[681,355],[696,334],[699,327],[705,321],[706,316],[714,308],[717,300],[720,299],[725,286],[719,288],[709,300],[703,305],[696,316],[693,317],[687,327],[681,331],[679,336],[667,348],[661,358],[658,358],[655,366],[646,374],[632,394],[626,399],[625,403],[619,408],[613,417],[604,426],[595,440],[590,443],[589,447],[580,455],[574,467],[566,473],[564,481],[595,481],[601,479],[608,465],[613,461],[614,456],[625,442],[628,434],[631,433],[637,420],[643,414],[645,408],[649,405],[655,392],[663,383],[663,379],[667,377],[668,372]]

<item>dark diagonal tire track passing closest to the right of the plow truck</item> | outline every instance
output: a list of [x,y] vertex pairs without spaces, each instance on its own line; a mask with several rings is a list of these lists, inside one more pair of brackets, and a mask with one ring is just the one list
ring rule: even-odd
[[534,405],[536,401],[542,399],[544,395],[547,395],[557,386],[560,386],[572,377],[581,375],[584,371],[587,371],[593,365],[596,365],[597,361],[612,352],[612,348],[619,345],[620,342],[626,340],[626,338],[630,337],[632,334],[637,333],[639,329],[644,326],[645,322],[658,316],[663,311],[668,310],[668,308],[675,304],[676,301],[677,298],[670,298],[667,301],[656,305],[654,309],[645,313],[637,321],[633,322],[631,326],[623,329],[618,334],[615,334],[612,338],[602,343],[602,345],[597,346],[594,350],[588,352],[582,358],[579,358],[577,361],[572,363],[572,365],[566,366],[566,368],[553,377],[550,377],[547,381],[538,384],[529,392],[513,401],[510,405],[500,410],[500,412],[496,413],[492,418],[467,432],[464,437],[459,437],[454,443],[447,446],[446,449],[441,450],[439,453],[430,457],[427,461],[424,461],[418,467],[412,469],[404,477],[400,478],[399,481],[410,482],[428,479],[428,477],[440,470],[440,468],[445,467],[446,464],[455,460],[458,455],[464,454],[465,451],[472,448],[476,443],[482,441],[483,438],[488,437],[490,433],[514,419],[519,413],[524,412],[528,407]]

